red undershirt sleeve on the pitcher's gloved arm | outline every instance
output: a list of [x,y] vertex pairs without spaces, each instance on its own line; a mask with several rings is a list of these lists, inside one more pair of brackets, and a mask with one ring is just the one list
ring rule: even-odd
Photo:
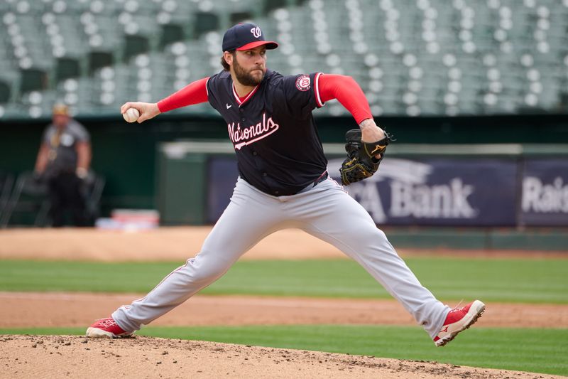
[[337,99],[353,115],[357,124],[361,124],[364,119],[373,118],[367,98],[353,78],[345,75],[322,74],[318,79],[321,105]]

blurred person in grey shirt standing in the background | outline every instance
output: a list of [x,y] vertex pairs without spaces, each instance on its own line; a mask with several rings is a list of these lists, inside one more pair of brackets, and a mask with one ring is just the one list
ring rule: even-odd
[[72,225],[92,224],[84,197],[90,162],[89,132],[70,116],[67,105],[55,105],[52,122],[43,132],[34,173],[48,185],[53,227],[64,225],[67,212],[71,213]]

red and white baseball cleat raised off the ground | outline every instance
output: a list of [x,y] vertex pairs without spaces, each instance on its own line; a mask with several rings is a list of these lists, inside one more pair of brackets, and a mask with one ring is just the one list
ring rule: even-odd
[[484,311],[485,304],[479,300],[473,301],[462,308],[454,308],[449,311],[442,329],[434,337],[436,346],[444,346],[449,341],[452,341],[460,331],[464,331],[473,325]]

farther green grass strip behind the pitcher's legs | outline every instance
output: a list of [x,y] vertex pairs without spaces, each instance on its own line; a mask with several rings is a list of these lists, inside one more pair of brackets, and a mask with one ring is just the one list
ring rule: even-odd
[[[568,303],[568,260],[412,257],[409,267],[439,299]],[[0,291],[148,292],[172,262],[0,261]],[[389,298],[351,260],[237,262],[203,294]]]

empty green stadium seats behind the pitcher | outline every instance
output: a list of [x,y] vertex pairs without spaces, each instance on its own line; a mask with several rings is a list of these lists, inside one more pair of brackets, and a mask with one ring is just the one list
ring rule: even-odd
[[280,43],[270,68],[352,75],[376,116],[568,110],[568,0],[5,0],[0,18],[0,117],[160,100],[217,72],[247,19]]

